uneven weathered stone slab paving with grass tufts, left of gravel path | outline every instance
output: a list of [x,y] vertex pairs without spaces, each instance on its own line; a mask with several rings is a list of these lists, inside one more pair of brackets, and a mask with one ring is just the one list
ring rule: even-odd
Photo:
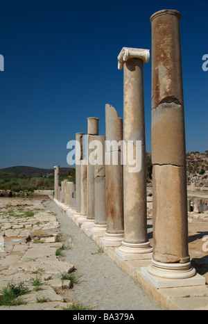
[[59,310],[71,305],[64,302],[56,289],[70,288],[71,282],[62,280],[61,275],[71,273],[74,266],[60,261],[56,255],[63,245],[59,242],[59,223],[45,209],[43,201],[44,198],[0,201],[0,291],[11,283],[24,283],[29,290],[21,296],[23,305],[0,306],[0,310]]

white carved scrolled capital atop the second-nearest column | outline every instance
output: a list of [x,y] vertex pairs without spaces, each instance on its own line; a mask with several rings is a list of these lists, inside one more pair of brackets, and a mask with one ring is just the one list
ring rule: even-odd
[[140,58],[144,63],[148,63],[150,58],[149,49],[133,49],[131,47],[123,47],[118,56],[118,69],[123,68],[123,63],[126,62],[129,58]]

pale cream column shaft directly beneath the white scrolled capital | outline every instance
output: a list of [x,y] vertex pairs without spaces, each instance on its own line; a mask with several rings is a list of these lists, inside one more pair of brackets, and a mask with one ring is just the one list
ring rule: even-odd
[[[143,60],[130,58],[123,65],[123,140],[133,141],[134,159],[141,170],[132,170],[127,159],[123,166],[124,241],[144,243],[147,237],[146,143],[144,122]],[[138,142],[136,142],[138,141]],[[137,149],[137,152],[136,152]],[[139,156],[136,156],[139,154]],[[139,161],[140,159],[140,161]]]

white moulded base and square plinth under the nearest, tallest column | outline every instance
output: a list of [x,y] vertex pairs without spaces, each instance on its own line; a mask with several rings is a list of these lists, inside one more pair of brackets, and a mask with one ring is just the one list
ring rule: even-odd
[[150,266],[141,268],[141,275],[157,289],[200,286],[205,285],[206,282],[205,277],[196,273],[196,270],[191,267],[191,262],[164,264],[152,259]]

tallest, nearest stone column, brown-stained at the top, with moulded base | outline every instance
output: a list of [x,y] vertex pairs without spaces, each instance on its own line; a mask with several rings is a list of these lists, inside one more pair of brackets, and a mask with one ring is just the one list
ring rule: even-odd
[[[173,279],[173,286],[176,279],[196,274],[188,251],[180,17],[176,10],[161,10],[150,18],[154,232],[153,259],[148,273]],[[161,284],[160,280],[156,281]],[[182,285],[186,285],[185,280]]]

